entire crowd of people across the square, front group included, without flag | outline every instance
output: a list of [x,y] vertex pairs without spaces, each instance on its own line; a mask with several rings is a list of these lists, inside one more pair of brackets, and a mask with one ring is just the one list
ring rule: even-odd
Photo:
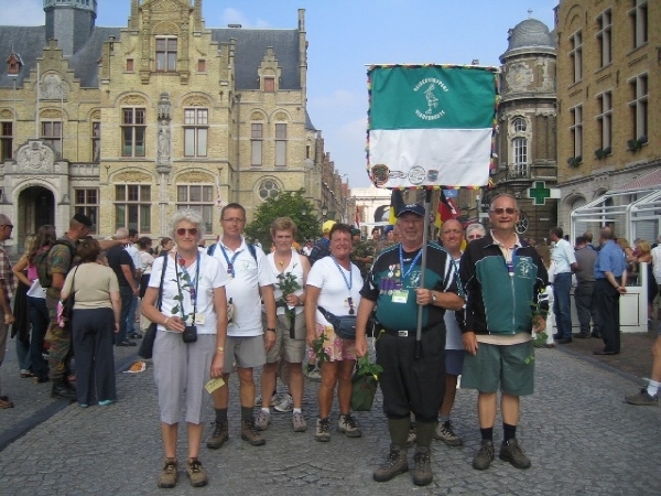
[[[154,322],[164,454],[158,485],[176,485],[177,432],[185,422],[185,473],[197,487],[208,482],[199,446],[209,401],[215,419],[207,448],[220,449],[230,432],[228,388],[207,395],[204,386],[212,379],[227,384],[232,371],[239,380],[239,432],[250,445],[266,444],[272,407],[292,413],[293,432],[307,430],[304,376],[319,381],[314,439],[330,440],[335,395],[337,431],[360,438],[350,411],[351,376],[357,358],[368,354],[369,322],[377,363],[383,367],[380,384],[391,440],[375,481],[408,472],[407,450],[415,444],[412,479],[427,485],[433,479],[432,440],[463,444],[451,420],[459,376],[464,388],[478,391],[481,443],[473,466],[486,470],[495,459],[500,392],[499,457],[528,468],[531,462],[517,439],[519,398],[533,392],[533,363],[527,358],[533,336],[546,327],[530,302],[538,310],[545,309],[546,298],[552,302],[550,322],[556,323],[556,333],[543,346],[595,337],[604,342],[596,355],[619,354],[619,298],[642,270],[649,319],[661,316],[661,236],[653,245],[644,239],[630,245],[603,227],[597,242],[584,233],[572,245],[556,226],[537,242],[517,234],[518,216],[516,198],[502,194],[489,209],[490,230],[456,219],[443,223],[438,238],[427,240],[427,279],[419,285],[420,205],[404,205],[395,225],[375,227],[365,239],[360,229],[327,220],[318,239],[299,242],[296,224],[279,217],[266,246],[246,238],[246,211],[239,204],[223,208],[221,235],[208,246],[202,218],[193,211],[175,213],[171,237],[158,241],[126,228],[98,241],[89,236],[91,219],[76,214],[61,237],[53,226],[41,226],[25,239],[24,254],[13,266],[0,242],[0,365],[7,338],[13,337],[22,378],[51,381],[53,398],[80,408],[112,405],[118,399],[113,347],[136,346]],[[0,241],[12,229],[11,219],[0,214]],[[516,288],[511,294],[502,291],[510,285]],[[62,316],[67,299],[74,301],[68,321]],[[339,317],[356,319],[355,339],[337,333],[334,320]],[[661,334],[652,354],[649,385],[625,398],[631,405],[659,402]],[[0,388],[0,409],[11,407]]]

